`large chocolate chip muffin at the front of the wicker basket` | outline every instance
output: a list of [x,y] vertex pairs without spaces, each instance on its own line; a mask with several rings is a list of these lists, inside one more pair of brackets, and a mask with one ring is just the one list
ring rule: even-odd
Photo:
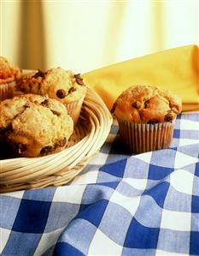
[[61,102],[26,94],[0,102],[0,138],[21,157],[60,152],[73,133],[73,120]]

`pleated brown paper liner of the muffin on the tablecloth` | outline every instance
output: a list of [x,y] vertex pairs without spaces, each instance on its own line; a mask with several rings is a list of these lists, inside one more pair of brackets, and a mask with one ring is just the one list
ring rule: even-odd
[[118,123],[121,138],[135,153],[167,148],[173,139],[174,122],[145,124],[118,120]]

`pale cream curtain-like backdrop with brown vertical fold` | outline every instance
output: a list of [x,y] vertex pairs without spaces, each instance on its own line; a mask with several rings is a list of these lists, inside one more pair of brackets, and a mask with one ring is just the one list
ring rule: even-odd
[[86,72],[198,44],[198,1],[0,2],[0,54],[21,68]]

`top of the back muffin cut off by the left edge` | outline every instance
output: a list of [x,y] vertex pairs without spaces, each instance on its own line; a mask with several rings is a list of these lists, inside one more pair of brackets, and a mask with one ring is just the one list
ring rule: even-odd
[[20,77],[20,68],[11,66],[5,57],[0,57],[0,85],[18,80]]

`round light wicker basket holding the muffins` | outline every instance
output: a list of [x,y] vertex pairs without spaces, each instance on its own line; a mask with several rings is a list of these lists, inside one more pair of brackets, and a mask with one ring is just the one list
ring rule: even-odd
[[112,124],[106,105],[88,89],[79,122],[67,148],[40,158],[0,160],[0,193],[70,182],[99,151]]

